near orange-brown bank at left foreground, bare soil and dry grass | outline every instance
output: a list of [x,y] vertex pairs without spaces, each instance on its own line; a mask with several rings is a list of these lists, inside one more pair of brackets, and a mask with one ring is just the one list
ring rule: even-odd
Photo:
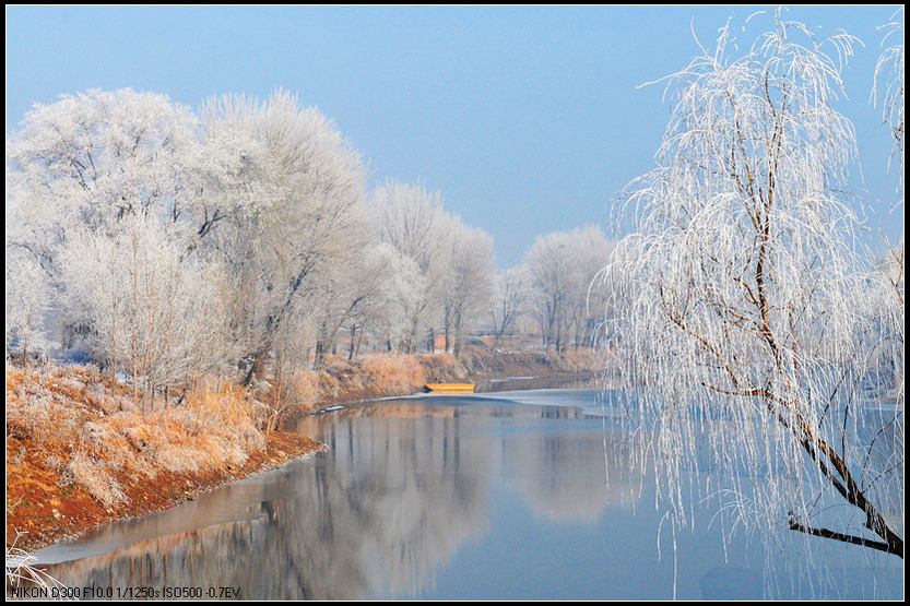
[[7,547],[159,511],[322,448],[257,429],[243,404],[222,387],[143,415],[91,370],[7,365]]

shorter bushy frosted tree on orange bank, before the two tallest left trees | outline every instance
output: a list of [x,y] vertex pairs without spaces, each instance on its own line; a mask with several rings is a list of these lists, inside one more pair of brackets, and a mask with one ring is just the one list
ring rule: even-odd
[[142,217],[123,219],[113,236],[73,230],[61,251],[63,309],[92,326],[84,345],[152,403],[156,392],[224,373],[237,357],[224,308],[229,278],[182,252]]

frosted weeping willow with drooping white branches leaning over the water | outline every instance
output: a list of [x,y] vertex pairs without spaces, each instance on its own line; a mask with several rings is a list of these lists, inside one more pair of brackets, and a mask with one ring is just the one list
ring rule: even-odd
[[855,146],[832,103],[856,40],[773,21],[735,58],[728,24],[667,79],[657,167],[625,199],[638,233],[604,272],[625,285],[610,345],[677,519],[707,435],[737,522],[902,558],[903,390],[879,389],[894,335],[838,193]]

